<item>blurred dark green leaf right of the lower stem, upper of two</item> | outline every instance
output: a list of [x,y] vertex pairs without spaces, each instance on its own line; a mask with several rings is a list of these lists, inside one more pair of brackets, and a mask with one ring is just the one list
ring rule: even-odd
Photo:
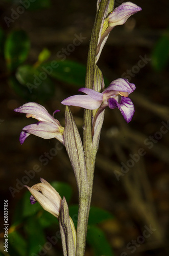
[[99,224],[103,221],[106,221],[112,218],[114,217],[110,212],[102,208],[92,206],[90,208],[88,225]]

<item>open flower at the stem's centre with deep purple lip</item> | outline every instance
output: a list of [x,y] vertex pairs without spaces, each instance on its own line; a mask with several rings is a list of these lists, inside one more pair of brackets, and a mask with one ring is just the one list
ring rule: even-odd
[[79,92],[86,95],[74,95],[64,99],[63,105],[81,106],[81,108],[96,110],[94,120],[99,114],[109,106],[110,109],[118,108],[122,113],[126,122],[130,122],[134,115],[134,105],[128,95],[135,90],[134,83],[130,83],[127,79],[118,78],[112,81],[103,93],[94,90],[81,88]]

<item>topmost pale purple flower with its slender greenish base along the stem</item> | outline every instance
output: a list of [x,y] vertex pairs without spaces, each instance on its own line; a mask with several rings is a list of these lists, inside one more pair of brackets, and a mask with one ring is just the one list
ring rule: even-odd
[[105,42],[108,38],[108,35],[110,31],[117,25],[123,25],[127,21],[127,19],[137,13],[138,11],[141,11],[142,9],[131,3],[126,2],[121,5],[119,5],[117,8],[115,8],[104,20],[103,27],[100,32],[100,38],[98,42],[98,48],[96,51],[97,60],[99,59],[99,56],[101,54],[101,51],[105,45]]

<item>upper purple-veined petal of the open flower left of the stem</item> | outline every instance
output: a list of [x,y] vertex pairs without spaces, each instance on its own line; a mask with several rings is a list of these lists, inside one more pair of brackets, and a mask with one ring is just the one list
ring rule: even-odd
[[56,122],[56,119],[53,118],[47,110],[44,108],[44,106],[36,103],[36,102],[28,102],[26,104],[23,104],[19,108],[14,110],[15,112],[30,114],[33,118],[39,120],[39,121],[50,121],[50,122]]

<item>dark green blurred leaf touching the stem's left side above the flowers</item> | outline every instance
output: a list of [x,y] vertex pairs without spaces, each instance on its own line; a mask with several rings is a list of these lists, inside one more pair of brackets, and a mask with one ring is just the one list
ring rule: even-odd
[[[56,61],[57,65],[50,74],[52,77],[68,84],[85,87],[86,67],[84,65],[71,60]],[[51,67],[51,62],[43,63],[43,67]]]

